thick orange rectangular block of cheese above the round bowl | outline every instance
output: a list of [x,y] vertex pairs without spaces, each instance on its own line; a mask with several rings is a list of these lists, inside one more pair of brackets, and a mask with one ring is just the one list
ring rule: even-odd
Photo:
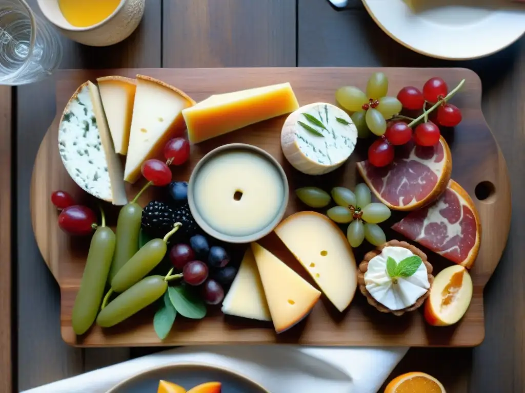
[[229,133],[299,107],[290,83],[216,94],[182,111],[191,143]]

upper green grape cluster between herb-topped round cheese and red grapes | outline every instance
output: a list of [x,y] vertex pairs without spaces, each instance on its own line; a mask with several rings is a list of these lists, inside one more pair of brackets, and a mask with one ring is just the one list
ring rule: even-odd
[[372,132],[381,136],[386,131],[386,120],[401,112],[403,105],[396,97],[387,96],[388,78],[375,72],[366,83],[366,93],[355,86],[343,86],[335,92],[335,100],[348,112],[358,129],[358,137],[366,138]]

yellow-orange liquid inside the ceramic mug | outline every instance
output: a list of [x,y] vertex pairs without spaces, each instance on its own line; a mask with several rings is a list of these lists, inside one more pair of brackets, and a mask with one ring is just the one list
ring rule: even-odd
[[89,27],[110,16],[120,0],[58,0],[62,15],[73,26]]

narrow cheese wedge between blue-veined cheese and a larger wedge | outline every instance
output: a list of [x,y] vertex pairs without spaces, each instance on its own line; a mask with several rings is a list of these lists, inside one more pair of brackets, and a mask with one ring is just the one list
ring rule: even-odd
[[128,152],[137,82],[118,76],[97,78],[97,82],[115,151],[125,156]]

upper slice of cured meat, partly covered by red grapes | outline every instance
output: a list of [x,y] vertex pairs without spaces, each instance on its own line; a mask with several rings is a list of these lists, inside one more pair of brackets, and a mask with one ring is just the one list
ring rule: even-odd
[[435,146],[408,143],[396,147],[394,161],[386,167],[374,167],[368,160],[357,166],[370,190],[390,209],[415,210],[445,190],[452,158],[441,137]]

